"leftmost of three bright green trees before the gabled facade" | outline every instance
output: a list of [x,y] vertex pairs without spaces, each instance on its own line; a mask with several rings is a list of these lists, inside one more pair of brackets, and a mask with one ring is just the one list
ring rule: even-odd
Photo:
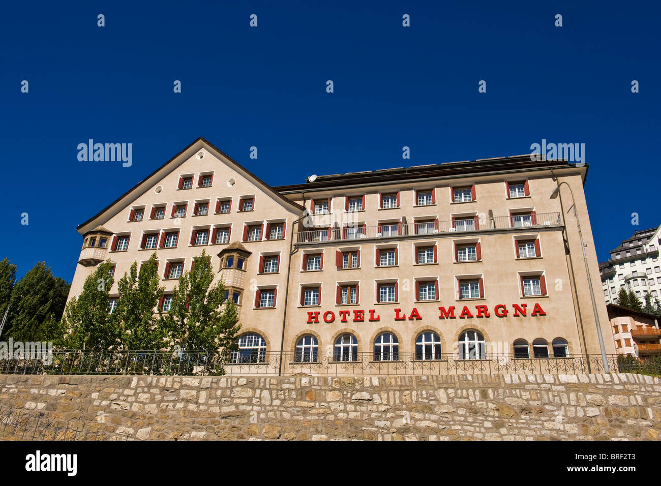
[[85,279],[83,292],[64,309],[65,333],[62,344],[71,349],[116,348],[120,333],[108,313],[110,288],[114,278],[108,275],[114,264],[108,260],[97,266]]

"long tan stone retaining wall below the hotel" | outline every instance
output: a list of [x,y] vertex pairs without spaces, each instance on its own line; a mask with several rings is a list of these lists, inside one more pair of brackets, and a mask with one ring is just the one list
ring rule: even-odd
[[635,374],[0,376],[0,401],[137,439],[654,440]]

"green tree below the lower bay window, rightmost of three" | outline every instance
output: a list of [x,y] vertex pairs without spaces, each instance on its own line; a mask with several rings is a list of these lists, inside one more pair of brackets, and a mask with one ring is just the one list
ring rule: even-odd
[[190,272],[184,272],[175,287],[170,310],[159,309],[160,320],[171,333],[173,344],[186,350],[233,350],[238,313],[235,304],[225,300],[225,287],[214,281],[210,258],[206,251],[193,260]]

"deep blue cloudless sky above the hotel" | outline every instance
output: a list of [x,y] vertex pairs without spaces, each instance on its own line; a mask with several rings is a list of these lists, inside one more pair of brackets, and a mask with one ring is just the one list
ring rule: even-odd
[[[198,136],[272,185],[585,143],[599,259],[661,223],[658,1],[354,3],[3,5],[0,258],[70,282],[76,226]],[[79,162],[89,138],[132,167]]]

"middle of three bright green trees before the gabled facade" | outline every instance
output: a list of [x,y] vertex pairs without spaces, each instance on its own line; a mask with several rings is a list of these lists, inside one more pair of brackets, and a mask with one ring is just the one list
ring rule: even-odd
[[155,307],[165,287],[159,287],[161,278],[156,253],[140,266],[131,265],[128,274],[117,282],[119,300],[112,317],[120,329],[122,347],[126,349],[156,350],[163,348],[165,329],[159,325]]

